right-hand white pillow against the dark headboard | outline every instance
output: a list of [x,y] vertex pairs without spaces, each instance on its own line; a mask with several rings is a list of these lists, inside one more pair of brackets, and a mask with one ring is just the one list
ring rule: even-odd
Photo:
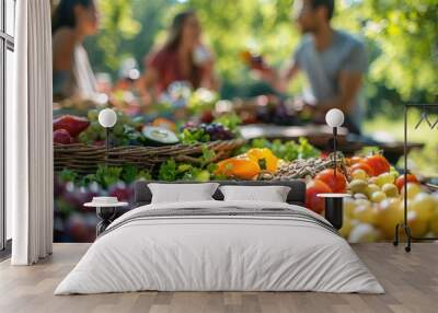
[[287,186],[221,186],[224,201],[286,202],[290,187]]

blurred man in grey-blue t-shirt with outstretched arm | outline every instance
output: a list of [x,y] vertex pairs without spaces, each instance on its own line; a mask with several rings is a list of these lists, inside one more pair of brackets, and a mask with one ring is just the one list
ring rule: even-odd
[[258,72],[280,92],[304,72],[310,90],[304,91],[300,104],[312,107],[315,119],[322,120],[328,109],[339,108],[346,115],[344,126],[360,134],[365,102],[360,90],[368,59],[361,40],[333,28],[334,9],[334,0],[296,0],[295,20],[304,36],[292,61],[281,71],[264,67]]

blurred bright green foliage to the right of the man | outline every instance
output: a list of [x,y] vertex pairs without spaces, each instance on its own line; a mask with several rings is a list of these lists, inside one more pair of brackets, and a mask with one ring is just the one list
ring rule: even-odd
[[353,4],[342,8],[337,22],[360,30],[380,49],[370,69],[371,82],[396,90],[404,101],[437,101],[438,2],[344,2]]

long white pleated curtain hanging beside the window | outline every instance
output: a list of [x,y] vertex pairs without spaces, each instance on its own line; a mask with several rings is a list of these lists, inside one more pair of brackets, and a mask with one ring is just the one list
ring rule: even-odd
[[13,265],[51,254],[51,30],[48,0],[16,1],[14,103],[7,107]]

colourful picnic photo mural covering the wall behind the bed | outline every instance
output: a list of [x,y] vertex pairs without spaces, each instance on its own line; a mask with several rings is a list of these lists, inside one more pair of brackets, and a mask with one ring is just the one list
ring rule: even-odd
[[[314,19],[297,19],[295,27],[290,10],[297,18],[314,12],[289,2],[51,2],[56,242],[94,241],[99,218],[84,204],[96,196],[131,204],[138,179],[303,179],[306,206],[321,215],[326,208],[319,194],[350,195],[339,230],[350,242],[391,241],[407,195],[413,235],[438,235],[438,141],[426,135],[426,123],[410,128],[407,175],[399,162],[400,104],[436,100],[436,47],[427,38],[435,38],[429,30],[437,9],[417,1],[405,1],[403,10],[391,1],[385,10],[376,1],[343,1],[333,22],[321,21],[339,45],[330,47],[325,61],[351,62],[360,74],[353,101],[338,103],[344,97],[324,92],[339,92],[341,81],[321,85],[311,79],[325,77],[327,67],[293,84],[297,68],[289,76],[276,70],[291,55],[296,63],[314,63],[300,45],[301,32],[315,35],[309,24]],[[344,42],[355,47],[351,57],[332,59],[343,55],[337,49]],[[293,54],[293,47],[301,48]],[[342,69],[332,70],[327,77]],[[360,91],[361,81],[367,85]],[[302,92],[309,83],[319,97]],[[342,107],[346,115],[336,140],[324,107]],[[414,108],[410,118],[420,114]],[[435,126],[436,119],[431,111],[427,120]]]

